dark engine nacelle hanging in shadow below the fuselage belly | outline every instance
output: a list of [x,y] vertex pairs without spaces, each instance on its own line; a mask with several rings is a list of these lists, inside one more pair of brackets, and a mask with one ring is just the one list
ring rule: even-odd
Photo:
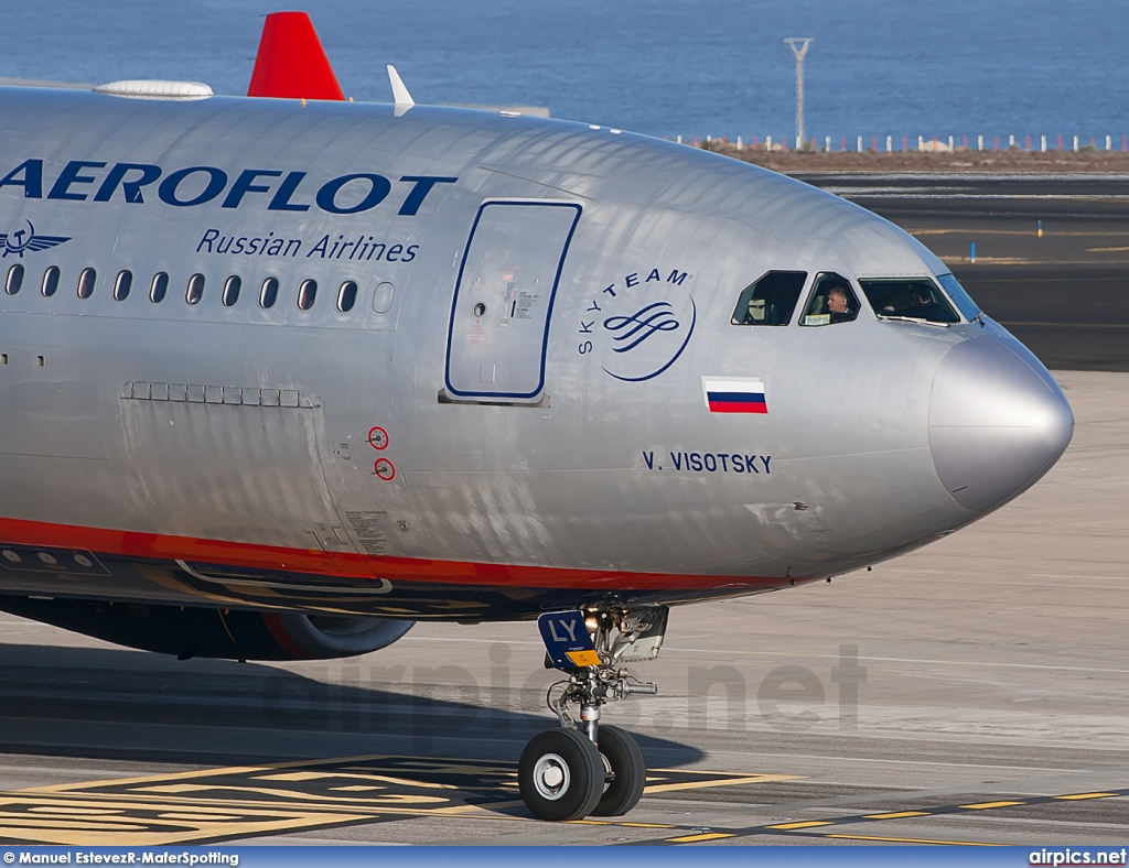
[[0,610],[130,648],[222,659],[329,659],[392,645],[414,621],[0,596]]

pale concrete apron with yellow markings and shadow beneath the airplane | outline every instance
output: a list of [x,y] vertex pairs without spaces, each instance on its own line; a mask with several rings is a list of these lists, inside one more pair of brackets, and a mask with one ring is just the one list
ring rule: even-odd
[[672,613],[611,706],[651,780],[550,824],[532,623],[418,625],[353,661],[184,663],[5,615],[0,842],[1039,843],[1129,838],[1129,377],[1058,374],[1030,491],[889,564]]

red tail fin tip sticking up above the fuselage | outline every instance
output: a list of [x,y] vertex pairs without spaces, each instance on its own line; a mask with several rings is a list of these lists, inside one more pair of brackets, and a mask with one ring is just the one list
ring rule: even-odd
[[248,97],[344,99],[306,12],[271,12],[263,23]]

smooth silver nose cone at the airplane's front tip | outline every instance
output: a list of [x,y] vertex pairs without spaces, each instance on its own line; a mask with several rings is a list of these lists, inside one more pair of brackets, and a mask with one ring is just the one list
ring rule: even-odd
[[940,360],[929,402],[929,449],[953,498],[988,512],[1051,469],[1074,435],[1074,414],[1047,369],[992,336]]

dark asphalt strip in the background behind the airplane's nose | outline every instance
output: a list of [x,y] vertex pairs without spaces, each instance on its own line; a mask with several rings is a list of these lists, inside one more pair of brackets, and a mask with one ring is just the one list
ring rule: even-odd
[[796,177],[913,233],[1048,367],[1129,371],[1129,176]]

